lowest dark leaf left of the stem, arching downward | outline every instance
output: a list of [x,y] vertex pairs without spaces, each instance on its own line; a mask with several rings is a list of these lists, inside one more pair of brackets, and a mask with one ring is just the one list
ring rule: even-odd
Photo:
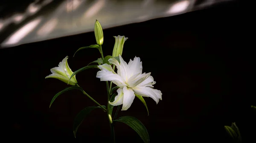
[[[105,106],[102,106],[104,108],[106,108]],[[74,124],[73,124],[73,132],[74,132],[74,136],[76,137],[76,132],[78,127],[81,125],[81,123],[84,121],[84,118],[87,117],[87,115],[90,114],[90,112],[94,109],[101,109],[101,107],[86,107],[84,109],[82,109],[77,115],[76,118],[74,120]]]

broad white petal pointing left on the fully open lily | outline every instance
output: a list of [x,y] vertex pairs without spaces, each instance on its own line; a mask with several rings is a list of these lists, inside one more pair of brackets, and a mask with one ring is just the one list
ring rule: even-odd
[[100,81],[113,81],[119,87],[127,86],[121,76],[111,71],[100,70],[97,72],[96,77],[100,78]]

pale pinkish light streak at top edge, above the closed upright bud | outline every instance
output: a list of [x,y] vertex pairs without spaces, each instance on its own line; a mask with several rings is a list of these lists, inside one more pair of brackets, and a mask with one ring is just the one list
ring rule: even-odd
[[84,18],[90,18],[97,14],[105,5],[106,0],[97,0],[87,11],[84,13]]

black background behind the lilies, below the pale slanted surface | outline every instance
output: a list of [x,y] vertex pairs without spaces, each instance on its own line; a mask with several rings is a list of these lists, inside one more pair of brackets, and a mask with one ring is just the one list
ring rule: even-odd
[[[148,129],[151,143],[232,142],[224,126],[236,121],[244,142],[253,141],[255,115],[253,99],[253,55],[244,47],[238,2],[104,30],[103,52],[112,55],[113,36],[125,35],[125,61],[140,57],[143,72],[151,72],[155,88],[163,93],[157,105],[135,98],[127,111]],[[100,21],[100,20],[99,20]],[[50,68],[65,56],[73,71],[100,57],[98,50],[79,51],[96,44],[94,33],[61,37],[0,50],[3,118],[8,121],[9,141],[105,143],[110,138],[107,116],[100,109],[84,120],[73,137],[73,119],[87,106],[96,106],[73,90],[52,97],[68,87],[57,79],[45,79]],[[79,73],[79,85],[102,105],[107,103],[105,82],[96,69]],[[3,123],[5,124],[5,122]],[[3,130],[6,130],[3,129]],[[117,143],[142,143],[131,128],[116,123]],[[253,131],[254,130],[254,131]]]

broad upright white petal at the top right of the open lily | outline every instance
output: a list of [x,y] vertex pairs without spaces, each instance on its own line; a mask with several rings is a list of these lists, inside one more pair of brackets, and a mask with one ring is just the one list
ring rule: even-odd
[[130,59],[128,67],[130,69],[129,77],[133,76],[135,73],[142,73],[142,62],[140,62],[140,57],[135,56],[133,61]]

